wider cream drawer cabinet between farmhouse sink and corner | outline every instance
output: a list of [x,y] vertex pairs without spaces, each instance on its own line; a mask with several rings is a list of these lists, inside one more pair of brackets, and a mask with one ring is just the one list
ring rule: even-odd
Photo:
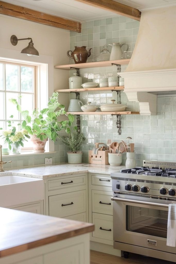
[[88,221],[88,174],[45,180],[46,215]]

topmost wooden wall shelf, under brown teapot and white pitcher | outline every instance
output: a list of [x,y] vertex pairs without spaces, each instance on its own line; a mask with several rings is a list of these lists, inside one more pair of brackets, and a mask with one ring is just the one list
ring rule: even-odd
[[95,68],[95,67],[105,67],[105,66],[111,66],[111,63],[125,65],[129,64],[130,59],[125,60],[107,60],[105,62],[86,62],[86,63],[77,63],[77,64],[68,64],[68,65],[56,65],[54,66],[55,69],[63,69],[63,70],[70,70],[70,67],[72,68]]

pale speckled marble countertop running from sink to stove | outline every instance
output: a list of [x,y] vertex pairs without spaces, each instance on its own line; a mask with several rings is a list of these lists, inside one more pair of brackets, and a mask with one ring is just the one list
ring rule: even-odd
[[46,179],[49,177],[58,177],[63,175],[72,175],[76,173],[101,173],[109,174],[111,172],[120,171],[120,169],[125,168],[125,166],[111,166],[111,165],[96,165],[96,164],[59,164],[51,166],[41,166],[41,167],[31,167],[23,169],[9,170],[5,172],[0,172],[1,175],[17,175],[26,176],[33,178]]

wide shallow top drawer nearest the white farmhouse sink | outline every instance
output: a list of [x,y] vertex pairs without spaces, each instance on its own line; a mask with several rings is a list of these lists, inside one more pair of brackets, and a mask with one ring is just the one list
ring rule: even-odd
[[49,180],[48,181],[48,191],[64,189],[68,187],[75,187],[80,185],[85,185],[86,175],[70,177],[70,178],[62,178],[57,180]]

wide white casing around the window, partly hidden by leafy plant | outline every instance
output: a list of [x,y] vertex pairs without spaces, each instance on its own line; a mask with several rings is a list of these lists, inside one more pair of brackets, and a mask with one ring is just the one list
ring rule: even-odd
[[[18,50],[0,48],[0,60],[37,66],[36,105],[39,109],[47,107],[48,99],[54,92],[53,56],[27,56],[26,54],[21,54]],[[48,140],[46,148],[47,152],[54,152],[54,142]]]

